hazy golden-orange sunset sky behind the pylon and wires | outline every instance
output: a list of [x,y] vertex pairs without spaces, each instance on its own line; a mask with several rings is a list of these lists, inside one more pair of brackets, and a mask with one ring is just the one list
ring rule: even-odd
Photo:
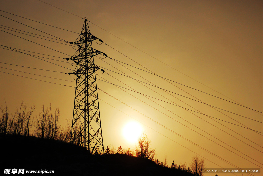
[[[180,84],[263,112],[262,1],[43,1],[77,16],[87,18],[95,24],[88,23],[92,35],[100,38],[109,46],[138,62],[143,67],[111,47],[104,44],[98,45],[93,42],[93,48],[106,53],[109,57],[143,70],[149,69],[159,76]],[[81,32],[84,23],[84,19],[38,0],[1,0],[0,10],[78,33]],[[75,41],[78,37],[76,33],[42,25],[1,11],[0,15],[66,41]],[[2,25],[0,27],[7,26],[48,36],[2,16],[0,16],[0,25]],[[148,53],[150,56],[101,28]],[[67,55],[0,31],[0,45],[3,46],[57,56],[43,57],[60,61],[65,61],[62,58],[69,57],[75,52],[71,46],[19,34],[3,28],[0,28],[0,30]],[[63,41],[57,42],[68,44]],[[64,69],[37,58],[2,48],[0,48],[0,62],[64,73],[72,72],[69,69],[74,70],[74,66],[68,63],[43,58],[69,68]],[[39,54],[36,55],[41,56]],[[104,70],[109,74],[104,73],[100,77],[97,76],[98,79],[106,79],[113,84],[128,89],[135,89],[142,94],[171,104],[177,104],[194,111],[198,110],[203,114],[263,132],[262,113],[257,113],[170,81],[171,84],[160,77],[125,65],[133,71],[131,72],[109,58],[101,60],[95,57],[94,62],[98,66],[104,67]],[[2,63],[0,63],[0,67],[74,81],[68,74],[64,73],[41,71]],[[0,71],[75,86],[74,82],[55,80],[4,68],[0,68]],[[198,101],[203,101],[206,104],[250,119],[223,110],[217,111],[205,104],[173,93],[170,93],[170,95],[159,88],[145,83],[142,85],[107,69],[118,73],[124,72],[140,81],[155,84],[158,87],[195,100],[199,99]],[[51,104],[53,108],[59,108],[60,122],[63,126],[66,124],[66,119],[71,123],[75,94],[73,87],[55,85],[2,72],[0,72],[1,105],[4,104],[4,99],[6,99],[8,107],[14,113],[16,106],[22,101],[26,102],[28,106],[35,104],[37,111],[34,115],[36,116],[41,111],[41,106],[44,102],[46,107]],[[189,164],[191,158],[197,153],[205,158],[207,168],[235,168],[232,165],[236,165],[239,168],[263,168],[262,133],[257,134],[254,131],[211,119],[205,115],[195,112],[190,113],[181,107],[153,98],[147,99],[138,93],[126,90],[133,97],[114,85],[100,80],[97,81],[97,86],[133,108],[131,109],[104,92],[98,91],[104,146],[112,144],[116,148],[120,145],[123,148],[134,148],[135,144],[129,143],[124,138],[122,131],[128,122],[139,121],[141,128],[145,130],[149,139],[152,140],[152,147],[156,149],[156,159],[164,161],[165,156],[167,156],[169,165],[171,165],[173,160],[175,160],[176,164],[180,162]],[[149,118],[169,128],[171,131]],[[216,158],[175,133],[218,155],[218,157],[232,165]],[[263,175],[262,169],[261,174],[256,175]]]

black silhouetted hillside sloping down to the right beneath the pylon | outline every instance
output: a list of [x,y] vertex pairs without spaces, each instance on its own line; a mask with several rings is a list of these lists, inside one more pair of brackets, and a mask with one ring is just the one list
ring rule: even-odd
[[95,156],[74,144],[33,136],[0,135],[0,141],[0,175],[13,168],[54,170],[44,175],[193,175],[148,159],[124,154]]

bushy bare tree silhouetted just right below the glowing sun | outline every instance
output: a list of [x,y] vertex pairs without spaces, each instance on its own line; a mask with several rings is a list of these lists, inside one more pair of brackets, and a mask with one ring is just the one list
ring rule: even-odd
[[140,135],[138,138],[139,146],[135,148],[135,156],[138,158],[147,158],[153,160],[155,155],[155,149],[150,148],[151,140],[148,139],[146,133]]

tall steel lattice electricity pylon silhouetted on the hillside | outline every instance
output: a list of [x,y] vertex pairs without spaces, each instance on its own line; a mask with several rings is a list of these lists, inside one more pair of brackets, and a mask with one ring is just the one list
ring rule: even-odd
[[92,41],[96,39],[90,34],[85,19],[81,34],[74,42],[79,49],[71,58],[77,63],[73,72],[77,79],[70,141],[84,146],[90,153],[96,150],[104,153],[95,74],[99,68],[93,58],[102,52],[92,48]]

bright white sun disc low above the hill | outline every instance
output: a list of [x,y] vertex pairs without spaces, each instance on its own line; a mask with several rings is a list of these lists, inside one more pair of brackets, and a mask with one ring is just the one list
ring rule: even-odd
[[129,143],[136,143],[142,131],[139,123],[130,121],[123,128],[123,136]]

